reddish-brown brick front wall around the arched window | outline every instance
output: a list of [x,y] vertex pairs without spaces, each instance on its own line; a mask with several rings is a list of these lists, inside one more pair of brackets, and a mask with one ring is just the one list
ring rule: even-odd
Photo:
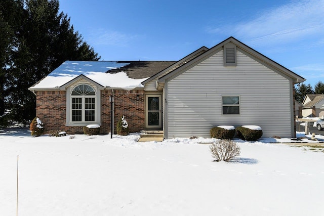
[[[110,132],[111,91],[101,91],[101,133]],[[139,100],[137,101],[137,95]],[[125,116],[130,133],[139,132],[145,127],[144,91],[114,91],[114,131],[118,118]],[[65,126],[66,123],[66,92],[36,92],[36,116],[45,124],[46,133],[52,129],[65,131],[67,134],[83,134],[83,126]]]

